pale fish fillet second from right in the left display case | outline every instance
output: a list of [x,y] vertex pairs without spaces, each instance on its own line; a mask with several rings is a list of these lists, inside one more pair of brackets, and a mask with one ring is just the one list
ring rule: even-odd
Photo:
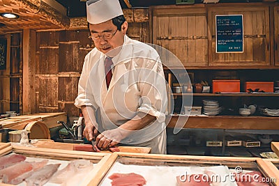
[[35,171],[26,179],[27,186],[41,186],[47,183],[50,177],[57,171],[60,164],[47,164]]

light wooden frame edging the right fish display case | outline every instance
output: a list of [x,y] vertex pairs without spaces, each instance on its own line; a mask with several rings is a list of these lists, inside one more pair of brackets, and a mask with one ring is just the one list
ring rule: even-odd
[[[122,166],[118,168],[114,168],[114,166],[118,166],[118,164],[124,164],[127,167],[131,167],[130,170],[121,169]],[[278,184],[278,175],[276,175],[274,167],[269,167],[266,162],[264,162],[259,157],[206,157],[206,156],[188,156],[188,155],[154,155],[154,154],[138,154],[138,153],[113,153],[110,155],[109,159],[100,169],[95,169],[93,175],[94,179],[91,180],[89,185],[107,185],[108,176],[111,176],[112,173],[138,173],[139,169],[135,169],[135,166],[153,166],[155,169],[160,169],[158,167],[165,167],[163,169],[174,169],[176,167],[186,167],[186,166],[202,166],[202,167],[212,167],[212,166],[222,166],[226,165],[229,169],[236,168],[240,166],[244,171],[252,170],[252,171],[260,171],[262,175],[266,178],[276,178],[275,183],[271,183],[271,185],[279,185]],[[274,169],[274,170],[273,170]],[[112,171],[114,170],[114,171]],[[119,170],[118,172],[115,170]],[[124,171],[123,171],[124,170]],[[137,171],[136,171],[137,170]],[[148,173],[144,173],[148,172]],[[167,171],[172,172],[172,171]],[[153,180],[162,180],[164,176],[167,175],[164,171],[158,172],[149,171],[149,168],[142,168],[142,176],[146,178],[146,185],[149,185],[147,180],[153,176],[150,176],[151,173],[154,173]],[[157,173],[157,174],[156,174]],[[176,174],[177,176],[177,174]],[[175,175],[174,175],[175,178]],[[174,179],[172,178],[172,180]],[[111,180],[110,180],[111,181]],[[174,180],[175,181],[175,180]],[[165,180],[165,183],[169,185],[170,181]],[[158,183],[159,185],[162,185]],[[151,184],[152,185],[152,184]],[[176,184],[174,184],[176,185]],[[171,186],[171,185],[169,185]]]

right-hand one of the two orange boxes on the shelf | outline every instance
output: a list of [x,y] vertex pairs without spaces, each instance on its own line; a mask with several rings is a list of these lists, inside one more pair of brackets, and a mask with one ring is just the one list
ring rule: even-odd
[[[246,82],[245,91],[249,93],[248,89],[252,89],[255,92],[273,93],[273,82]],[[258,90],[256,90],[258,88]]]

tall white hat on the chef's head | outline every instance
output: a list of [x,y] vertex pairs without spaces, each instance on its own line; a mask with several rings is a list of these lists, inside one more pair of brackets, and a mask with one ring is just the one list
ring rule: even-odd
[[123,15],[119,0],[86,1],[87,22],[99,24]]

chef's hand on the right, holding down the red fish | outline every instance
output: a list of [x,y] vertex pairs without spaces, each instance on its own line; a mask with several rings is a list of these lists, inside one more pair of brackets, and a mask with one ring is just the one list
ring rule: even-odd
[[115,146],[121,141],[121,139],[124,139],[125,137],[126,135],[123,134],[123,130],[120,130],[119,128],[106,130],[105,132],[102,132],[98,135],[96,138],[96,144],[98,148],[105,149]]

